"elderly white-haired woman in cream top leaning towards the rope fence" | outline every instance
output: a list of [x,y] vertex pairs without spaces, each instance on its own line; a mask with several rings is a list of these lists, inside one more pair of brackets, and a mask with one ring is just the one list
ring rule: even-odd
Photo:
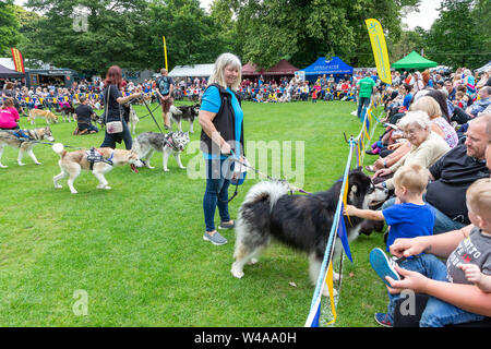
[[[431,121],[424,111],[409,111],[399,120],[399,128],[404,136],[411,144],[411,149],[400,160],[391,166],[378,170],[373,178],[395,173],[403,165],[418,164],[429,168],[451,148],[448,144],[436,133],[431,131]],[[394,189],[392,179],[382,183],[382,186]]]

